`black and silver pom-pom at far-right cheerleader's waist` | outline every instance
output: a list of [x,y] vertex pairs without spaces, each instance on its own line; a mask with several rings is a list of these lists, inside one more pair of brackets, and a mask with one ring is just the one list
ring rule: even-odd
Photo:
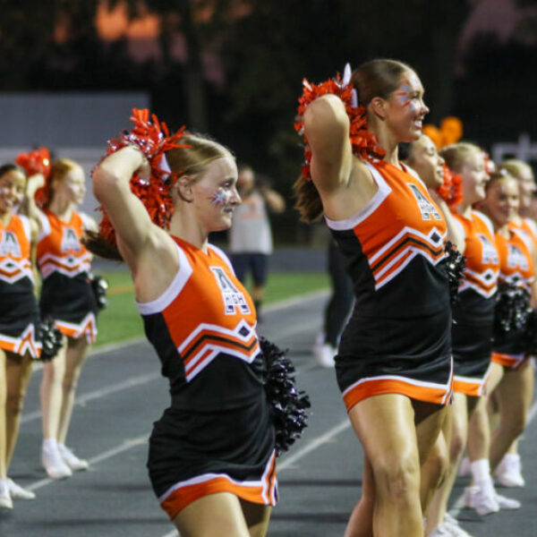
[[494,306],[495,333],[525,330],[532,314],[530,298],[524,287],[507,282],[499,284]]

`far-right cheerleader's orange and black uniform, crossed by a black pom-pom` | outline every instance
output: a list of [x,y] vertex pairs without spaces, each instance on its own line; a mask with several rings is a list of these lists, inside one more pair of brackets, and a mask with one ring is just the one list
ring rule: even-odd
[[[532,293],[535,271],[532,243],[528,234],[518,226],[509,224],[509,238],[496,234],[499,253],[499,283],[508,282],[524,287]],[[513,329],[507,334],[494,334],[492,362],[516,369],[528,358],[528,343],[525,328]]]

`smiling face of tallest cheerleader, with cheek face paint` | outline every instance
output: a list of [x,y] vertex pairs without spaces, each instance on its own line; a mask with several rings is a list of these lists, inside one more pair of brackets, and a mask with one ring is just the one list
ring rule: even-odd
[[386,101],[385,121],[397,141],[416,141],[422,135],[423,118],[429,113],[423,102],[423,92],[418,75],[405,71],[397,89]]

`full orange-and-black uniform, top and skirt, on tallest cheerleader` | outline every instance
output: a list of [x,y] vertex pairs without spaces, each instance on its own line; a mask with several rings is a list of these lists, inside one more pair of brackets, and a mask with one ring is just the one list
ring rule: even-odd
[[326,218],[356,295],[337,382],[347,410],[387,393],[444,405],[453,373],[446,223],[410,168],[367,166],[378,192],[353,217]]

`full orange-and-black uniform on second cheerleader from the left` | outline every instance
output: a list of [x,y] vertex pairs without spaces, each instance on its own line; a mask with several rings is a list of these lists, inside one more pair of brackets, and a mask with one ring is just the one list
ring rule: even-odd
[[90,284],[91,253],[81,243],[88,226],[83,213],[63,222],[49,210],[41,215],[38,267],[43,278],[39,308],[67,337],[97,337],[97,300]]

